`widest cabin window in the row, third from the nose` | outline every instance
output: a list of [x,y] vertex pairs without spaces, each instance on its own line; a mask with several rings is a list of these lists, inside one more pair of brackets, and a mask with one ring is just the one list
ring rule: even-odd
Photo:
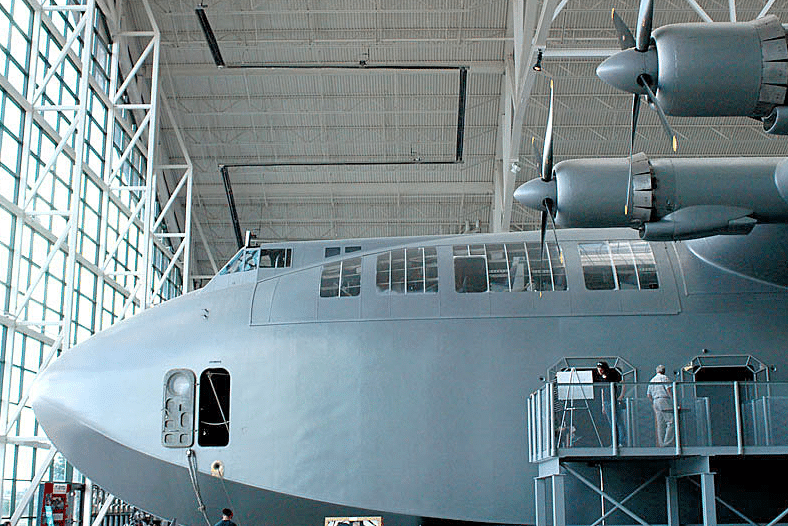
[[457,292],[566,290],[566,268],[555,243],[545,243],[544,249],[528,242],[456,245],[453,250]]

